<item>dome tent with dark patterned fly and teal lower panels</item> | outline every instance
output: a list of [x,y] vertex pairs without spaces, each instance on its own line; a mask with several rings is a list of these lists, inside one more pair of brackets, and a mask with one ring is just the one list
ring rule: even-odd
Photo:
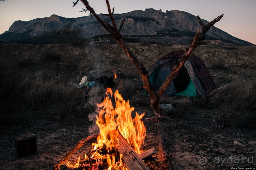
[[[149,82],[155,92],[161,87],[184,53],[184,50],[170,52],[155,63],[148,73]],[[214,88],[215,84],[205,64],[192,54],[173,79],[165,94],[190,97],[200,94],[206,99]]]

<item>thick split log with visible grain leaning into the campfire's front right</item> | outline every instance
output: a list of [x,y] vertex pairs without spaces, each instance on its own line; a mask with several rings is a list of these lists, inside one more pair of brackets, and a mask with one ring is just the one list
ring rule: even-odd
[[[147,165],[142,161],[140,156],[129,145],[126,139],[118,132],[114,131],[115,135],[119,139],[117,145],[117,151],[123,155],[124,164],[129,170],[148,169]],[[115,141],[116,142],[116,141]],[[149,169],[148,169],[149,170]]]

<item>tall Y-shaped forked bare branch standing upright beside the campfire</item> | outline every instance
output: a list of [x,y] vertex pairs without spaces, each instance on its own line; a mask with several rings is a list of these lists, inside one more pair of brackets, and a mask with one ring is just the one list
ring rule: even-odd
[[[159,106],[159,101],[161,99],[161,96],[166,91],[169,84],[172,82],[172,80],[177,76],[179,70],[181,67],[186,63],[187,59],[193,54],[196,47],[200,46],[201,44],[209,43],[209,42],[216,42],[216,41],[205,41],[205,34],[207,31],[220,19],[222,18],[222,15],[215,18],[213,21],[209,22],[206,26],[204,26],[200,20],[200,17],[197,15],[197,20],[199,22],[199,25],[202,29],[200,32],[200,29],[198,29],[196,35],[194,36],[194,39],[191,40],[190,45],[188,48],[186,48],[186,52],[183,54],[179,62],[174,66],[173,70],[170,72],[170,74],[167,76],[165,82],[162,84],[162,86],[159,88],[158,91],[154,91],[153,88],[150,85],[149,79],[148,79],[148,72],[146,68],[139,62],[137,57],[134,55],[134,53],[128,48],[128,46],[125,44],[125,42],[122,39],[121,35],[121,29],[123,27],[123,24],[126,20],[126,18],[123,18],[120,27],[118,28],[115,19],[114,19],[114,10],[115,8],[111,9],[109,1],[106,0],[107,8],[108,8],[108,16],[110,17],[111,24],[108,22],[103,22],[101,18],[95,13],[94,9],[89,5],[89,2],[87,0],[77,0],[76,2],[73,2],[75,6],[79,1],[81,1],[85,5],[85,9],[83,9],[80,12],[90,12],[90,15],[93,15],[96,20],[116,39],[117,43],[121,46],[123,51],[128,55],[128,57],[131,59],[131,61],[136,66],[137,70],[141,74],[142,81],[144,82],[143,88],[145,88],[148,91],[148,94],[150,96],[150,105],[154,111],[154,113],[157,115],[155,118],[155,121],[158,123],[158,146],[159,146],[159,152],[161,153],[163,162],[165,162],[166,169],[172,169],[171,162],[168,159],[168,154],[164,147],[164,112],[162,108]],[[106,15],[106,14],[105,14]],[[220,41],[217,41],[220,42]]]

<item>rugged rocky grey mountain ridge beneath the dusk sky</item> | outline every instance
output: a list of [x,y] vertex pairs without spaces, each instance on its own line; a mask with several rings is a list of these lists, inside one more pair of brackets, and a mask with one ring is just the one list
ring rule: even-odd
[[[99,16],[103,21],[110,22],[108,16]],[[124,14],[115,14],[114,17],[117,25],[121,24],[124,17],[127,18],[121,31],[123,36],[160,41],[166,44],[188,44],[199,28],[196,16],[178,10],[162,12],[151,8],[145,9],[145,11],[136,10]],[[202,22],[204,24],[208,23],[206,20],[202,20]],[[52,43],[54,39],[51,32],[67,24],[72,27],[81,27],[83,38],[108,34],[92,15],[79,18],[51,15],[50,17],[37,18],[31,21],[15,21],[8,31],[0,35],[0,40],[33,41],[39,44]],[[207,32],[206,38],[236,45],[253,45],[214,26]]]

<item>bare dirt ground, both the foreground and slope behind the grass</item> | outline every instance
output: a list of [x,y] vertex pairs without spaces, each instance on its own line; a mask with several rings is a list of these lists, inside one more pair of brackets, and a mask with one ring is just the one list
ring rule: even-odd
[[[168,52],[184,50],[186,46],[161,46],[130,44],[131,50],[147,68]],[[45,62],[45,56],[61,56],[60,60]],[[241,80],[256,76],[256,46],[200,46],[195,52],[207,66],[215,84],[220,85],[233,76]],[[81,77],[118,75],[141,83],[141,78],[130,59],[115,44],[69,45],[24,45],[0,44],[1,60],[6,65],[14,65],[28,71],[47,70],[48,76]],[[135,83],[136,84],[136,83]],[[138,84],[138,83],[137,83]],[[134,106],[145,117],[153,117],[150,106]],[[193,108],[193,107],[191,107]],[[256,167],[256,123],[254,129],[216,128],[213,121],[218,110],[194,108],[167,115],[165,124],[165,144],[173,169],[231,169],[231,167]],[[75,145],[90,135],[89,119],[78,119],[73,124],[46,117],[44,112],[28,112],[20,109],[13,113],[13,124],[1,125],[0,169],[52,169]],[[255,111],[252,114],[256,114]],[[239,120],[238,120],[239,121]],[[37,138],[37,152],[31,156],[18,158],[13,133],[21,127],[33,126]],[[157,124],[146,124],[145,144],[157,140]],[[29,130],[28,130],[29,131]],[[234,145],[238,141],[243,146]],[[157,145],[154,146],[157,148]],[[84,148],[84,150],[82,150]],[[82,147],[70,159],[75,160],[80,153],[89,152]],[[160,169],[160,154],[148,161]],[[62,167],[65,169],[65,167]],[[150,167],[150,169],[153,169]]]

